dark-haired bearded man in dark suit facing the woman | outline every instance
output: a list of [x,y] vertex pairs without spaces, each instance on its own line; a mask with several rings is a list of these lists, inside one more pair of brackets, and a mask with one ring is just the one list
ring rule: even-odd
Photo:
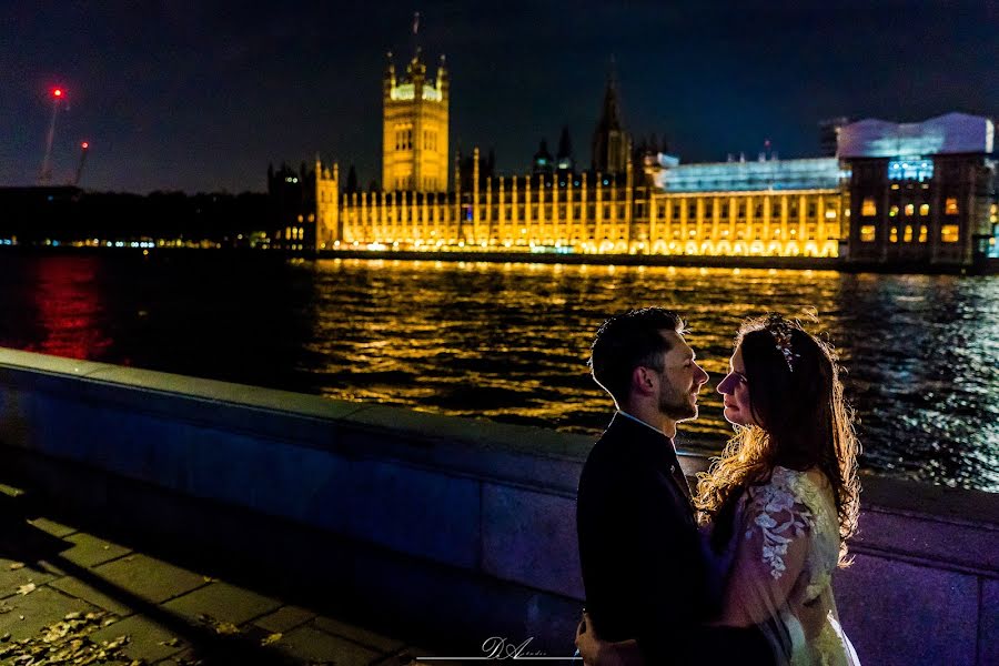
[[604,640],[636,639],[649,666],[770,662],[759,632],[704,626],[712,601],[673,437],[697,416],[708,375],[683,320],[662,307],[612,316],[591,366],[617,407],[583,467],[576,508],[593,628]]

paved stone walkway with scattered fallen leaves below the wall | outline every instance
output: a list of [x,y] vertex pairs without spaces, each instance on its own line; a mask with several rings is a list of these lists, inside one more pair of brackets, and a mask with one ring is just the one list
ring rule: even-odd
[[0,664],[397,666],[434,654],[26,514],[21,495],[0,486]]

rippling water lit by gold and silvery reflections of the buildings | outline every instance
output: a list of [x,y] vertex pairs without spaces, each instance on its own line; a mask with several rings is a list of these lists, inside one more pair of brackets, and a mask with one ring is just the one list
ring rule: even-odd
[[[384,260],[322,260],[314,271],[309,350],[322,361],[311,371],[332,397],[597,433],[612,404],[586,367],[594,332],[608,314],[662,305],[687,319],[710,375],[680,444],[717,451],[730,431],[715,386],[739,323],[770,311],[814,315],[810,329],[847,366],[868,466],[999,490],[997,280]],[[963,331],[963,346],[930,353],[947,335],[953,342],[951,329]],[[948,390],[940,376],[955,364],[981,375]],[[952,437],[944,454],[940,433]],[[973,452],[958,444],[968,441]]]

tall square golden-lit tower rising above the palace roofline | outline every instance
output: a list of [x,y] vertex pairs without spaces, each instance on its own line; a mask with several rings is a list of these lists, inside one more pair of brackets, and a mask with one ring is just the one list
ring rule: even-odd
[[396,79],[392,53],[389,53],[382,115],[382,189],[385,192],[447,191],[450,88],[443,56],[437,78],[430,80],[417,47],[405,75]]

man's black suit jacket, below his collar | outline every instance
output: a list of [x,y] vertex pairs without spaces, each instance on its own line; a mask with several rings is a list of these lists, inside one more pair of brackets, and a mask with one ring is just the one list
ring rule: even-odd
[[675,655],[706,619],[694,511],[674,470],[668,437],[616,414],[579,478],[586,609],[602,638],[636,638],[649,664]]

